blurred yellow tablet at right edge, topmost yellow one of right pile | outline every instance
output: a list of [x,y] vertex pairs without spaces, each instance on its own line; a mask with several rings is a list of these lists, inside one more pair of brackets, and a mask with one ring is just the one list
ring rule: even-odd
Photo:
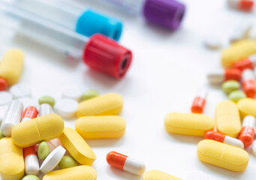
[[240,40],[222,51],[221,63],[224,68],[232,68],[236,62],[255,53],[256,42],[254,40]]

